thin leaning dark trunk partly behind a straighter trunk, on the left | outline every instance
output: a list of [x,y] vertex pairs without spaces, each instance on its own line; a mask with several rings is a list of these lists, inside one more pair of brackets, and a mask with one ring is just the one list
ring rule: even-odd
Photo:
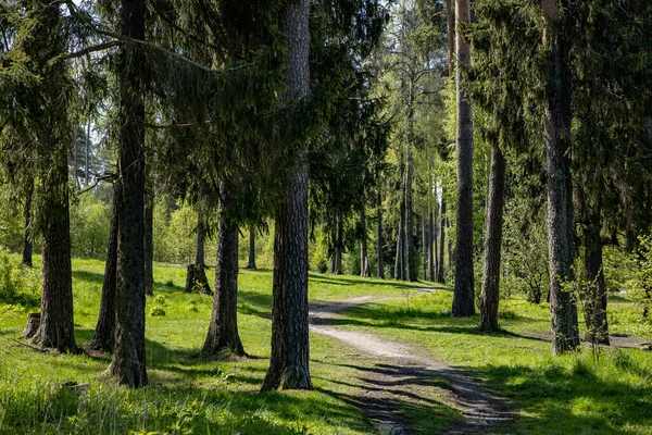
[[115,282],[117,269],[117,220],[120,208],[120,188],[113,187],[113,204],[111,207],[111,226],[109,227],[109,248],[104,264],[104,281],[102,282],[102,299],[100,315],[92,339],[88,347],[95,350],[113,351],[115,339]]

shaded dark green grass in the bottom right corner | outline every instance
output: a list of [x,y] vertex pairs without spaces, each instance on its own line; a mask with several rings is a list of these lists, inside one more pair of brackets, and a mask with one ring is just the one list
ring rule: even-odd
[[576,373],[559,366],[486,366],[487,384],[521,410],[522,432],[631,434],[652,424],[652,385],[599,377],[593,369]]

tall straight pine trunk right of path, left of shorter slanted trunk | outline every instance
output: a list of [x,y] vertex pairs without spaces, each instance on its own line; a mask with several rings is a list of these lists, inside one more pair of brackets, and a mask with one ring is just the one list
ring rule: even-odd
[[462,27],[471,21],[468,0],[456,0],[456,91],[457,91],[457,216],[455,226],[455,285],[453,293],[454,318],[473,315],[473,114],[471,99],[464,90],[464,67],[471,66],[471,47],[464,40]]

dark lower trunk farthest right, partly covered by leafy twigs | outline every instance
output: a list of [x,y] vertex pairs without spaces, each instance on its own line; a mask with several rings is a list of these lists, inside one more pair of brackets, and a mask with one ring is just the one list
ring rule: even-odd
[[602,271],[601,212],[598,206],[591,213],[585,231],[585,279],[588,283],[585,296],[585,321],[587,341],[610,345],[606,318],[606,283]]

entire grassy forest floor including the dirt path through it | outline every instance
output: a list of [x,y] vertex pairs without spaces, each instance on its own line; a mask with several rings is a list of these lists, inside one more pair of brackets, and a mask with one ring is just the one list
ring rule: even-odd
[[[79,345],[92,336],[102,274],[100,260],[73,262]],[[20,336],[38,307],[0,300],[0,434],[652,434],[652,352],[552,357],[546,303],[501,300],[502,330],[487,334],[477,315],[450,316],[447,287],[311,273],[314,390],[259,394],[269,358],[272,272],[239,275],[239,330],[251,356],[243,359],[200,353],[212,298],[181,291],[185,269],[155,264],[154,277],[150,386],[139,390],[101,375],[109,355],[25,347]],[[610,298],[610,326],[631,346],[652,340],[652,325],[627,295]]]

